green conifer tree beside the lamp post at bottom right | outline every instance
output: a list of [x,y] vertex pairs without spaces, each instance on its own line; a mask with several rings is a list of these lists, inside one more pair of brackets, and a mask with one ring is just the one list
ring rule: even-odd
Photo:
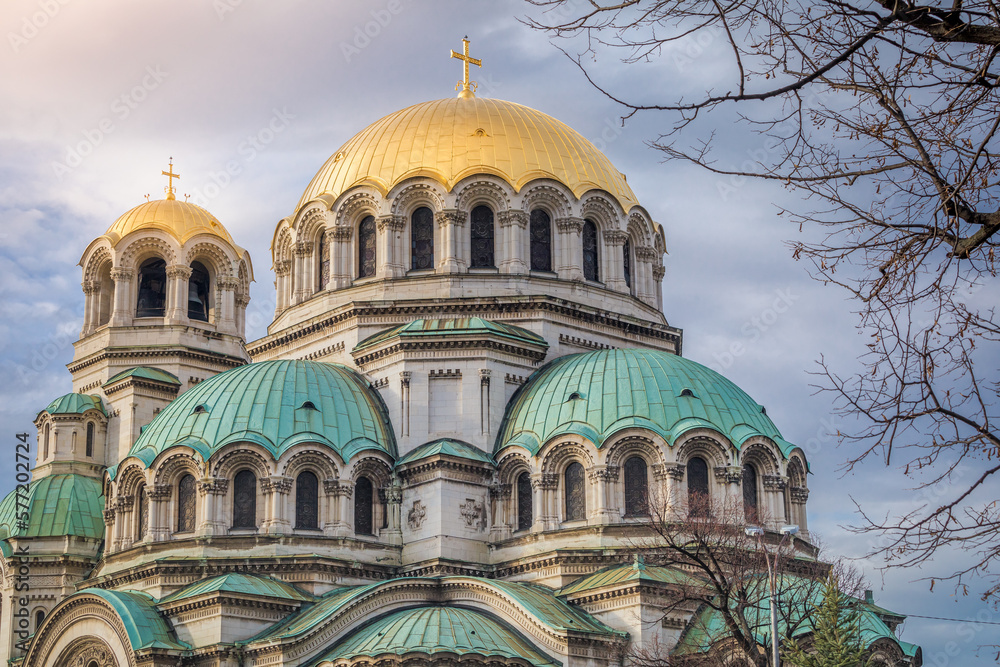
[[823,587],[823,601],[812,616],[813,635],[809,650],[791,640],[782,651],[782,660],[797,667],[863,667],[867,664],[861,640],[861,614],[852,598],[840,590],[831,574]]

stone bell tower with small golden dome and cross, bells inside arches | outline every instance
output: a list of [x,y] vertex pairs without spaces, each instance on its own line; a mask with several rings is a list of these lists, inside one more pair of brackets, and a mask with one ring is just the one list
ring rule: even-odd
[[166,198],[122,215],[80,260],[84,323],[73,391],[107,410],[104,465],[186,389],[247,362],[245,316],[253,268],[211,213],[178,201],[173,160]]

